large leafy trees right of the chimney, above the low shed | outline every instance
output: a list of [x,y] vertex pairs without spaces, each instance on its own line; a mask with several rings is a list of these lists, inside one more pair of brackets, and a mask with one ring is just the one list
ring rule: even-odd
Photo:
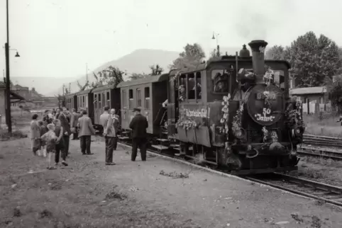
[[313,32],[299,36],[290,47],[272,47],[267,57],[287,60],[297,87],[323,86],[326,77],[332,79],[342,69],[336,43],[325,35],[317,38]]

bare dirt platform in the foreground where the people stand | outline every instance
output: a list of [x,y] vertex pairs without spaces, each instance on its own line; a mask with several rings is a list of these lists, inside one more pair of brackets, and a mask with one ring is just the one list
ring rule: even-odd
[[133,163],[121,149],[104,166],[103,142],[82,156],[71,141],[70,166],[53,171],[29,147],[0,144],[0,227],[342,227],[336,207],[159,157]]

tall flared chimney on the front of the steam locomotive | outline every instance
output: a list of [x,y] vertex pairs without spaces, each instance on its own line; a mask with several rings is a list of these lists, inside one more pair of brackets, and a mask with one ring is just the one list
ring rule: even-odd
[[249,44],[252,49],[253,72],[255,74],[255,84],[263,84],[265,74],[265,40],[252,40]]

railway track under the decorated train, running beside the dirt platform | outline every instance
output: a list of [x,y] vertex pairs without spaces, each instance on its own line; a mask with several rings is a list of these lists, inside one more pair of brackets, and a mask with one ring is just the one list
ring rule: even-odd
[[[129,142],[124,142],[120,140],[120,143],[131,147]],[[178,156],[174,156],[172,153],[162,153],[158,152],[157,149],[149,148],[148,152],[151,154],[162,155],[170,157],[171,159],[176,159],[182,161],[187,165],[194,166],[194,163],[187,161],[186,159],[182,159]],[[203,168],[204,166],[202,166]],[[210,169],[216,173],[225,174],[224,171],[216,169],[215,167],[206,166],[204,169]],[[285,175],[282,173],[267,173],[260,174],[255,176],[243,176],[241,178],[245,178],[249,181],[262,183],[267,186],[272,186],[273,188],[286,190],[291,193],[295,193],[297,195],[302,195],[307,198],[319,200],[321,202],[331,203],[333,205],[338,205],[342,207],[342,188],[337,186],[330,186],[324,183],[318,183],[315,181],[310,181],[303,178],[297,178],[294,176]]]

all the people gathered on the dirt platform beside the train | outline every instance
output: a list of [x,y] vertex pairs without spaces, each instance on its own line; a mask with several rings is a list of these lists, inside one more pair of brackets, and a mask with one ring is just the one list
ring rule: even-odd
[[[129,127],[132,129],[132,155],[131,161],[136,161],[138,147],[140,148],[141,160],[146,161],[146,144],[148,120],[140,114],[140,109],[134,108],[135,117],[131,120]],[[101,125],[104,129],[106,165],[114,165],[113,152],[118,144],[118,134],[121,131],[119,116],[113,108],[109,113],[109,106],[104,107],[104,113],[100,116]],[[60,163],[68,166],[70,136],[72,140],[80,141],[82,154],[93,154],[90,150],[92,135],[95,135],[92,120],[87,110],[57,108],[56,110],[45,110],[41,120],[34,114],[31,121],[32,150],[35,156],[48,158],[48,169],[56,169]],[[53,166],[53,154],[55,154],[55,165]]]

